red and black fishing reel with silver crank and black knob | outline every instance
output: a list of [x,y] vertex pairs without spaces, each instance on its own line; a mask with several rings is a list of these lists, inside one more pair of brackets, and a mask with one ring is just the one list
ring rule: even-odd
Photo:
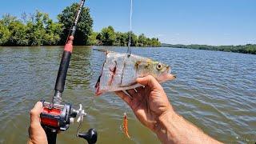
[[[44,100],[41,102],[43,104],[43,110],[40,117],[41,125],[44,130],[50,130],[51,134],[57,134],[58,131],[65,131],[70,127],[70,124],[74,123],[74,118],[78,117],[77,122],[79,122],[79,126],[77,137],[85,138],[89,144],[97,142],[98,134],[95,129],[90,129],[86,133],[79,132],[83,117],[86,116],[85,110],[82,109],[81,104],[79,105],[79,109],[75,110],[72,105],[68,103],[61,105],[45,102]],[[52,136],[47,135],[47,138],[48,137]]]

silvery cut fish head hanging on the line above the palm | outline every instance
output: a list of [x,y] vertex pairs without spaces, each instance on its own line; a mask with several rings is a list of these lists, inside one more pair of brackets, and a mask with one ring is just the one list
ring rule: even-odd
[[130,90],[142,86],[136,82],[137,78],[152,75],[158,82],[166,82],[176,78],[170,74],[170,66],[145,58],[139,55],[118,53],[108,50],[106,59],[102,65],[102,72],[98,77],[95,87],[95,95],[106,92]]

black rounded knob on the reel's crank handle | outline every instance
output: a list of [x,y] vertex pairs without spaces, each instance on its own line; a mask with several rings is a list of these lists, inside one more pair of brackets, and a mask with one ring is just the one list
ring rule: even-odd
[[85,138],[88,144],[94,144],[97,142],[97,131],[95,129],[90,129],[86,133],[79,133],[78,137]]

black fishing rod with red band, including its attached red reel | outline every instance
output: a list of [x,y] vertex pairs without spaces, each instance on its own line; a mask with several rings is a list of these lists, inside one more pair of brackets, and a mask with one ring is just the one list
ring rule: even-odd
[[89,144],[95,143],[98,137],[97,131],[95,129],[90,129],[86,133],[79,132],[83,117],[86,115],[85,110],[82,109],[81,104],[79,105],[78,110],[75,110],[69,103],[62,104],[62,93],[64,91],[66,73],[70,64],[70,57],[73,50],[74,34],[84,3],[85,0],[81,0],[74,19],[74,23],[67,37],[66,45],[62,53],[62,60],[58,69],[58,76],[55,82],[55,91],[52,102],[45,102],[44,100],[41,101],[43,104],[43,110],[40,114],[41,125],[46,131],[47,140],[50,144],[56,143],[58,132],[67,130],[70,127],[70,124],[74,122],[74,118],[77,116],[77,122],[80,122],[78,126],[77,137],[85,138]]

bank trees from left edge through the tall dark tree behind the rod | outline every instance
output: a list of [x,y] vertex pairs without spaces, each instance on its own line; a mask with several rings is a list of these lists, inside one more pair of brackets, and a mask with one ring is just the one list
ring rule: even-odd
[[[67,6],[58,14],[58,22],[38,10],[34,14],[22,13],[21,18],[4,14],[0,19],[0,46],[64,45],[77,8],[78,3]],[[86,45],[92,25],[89,9],[84,8],[74,44]]]

